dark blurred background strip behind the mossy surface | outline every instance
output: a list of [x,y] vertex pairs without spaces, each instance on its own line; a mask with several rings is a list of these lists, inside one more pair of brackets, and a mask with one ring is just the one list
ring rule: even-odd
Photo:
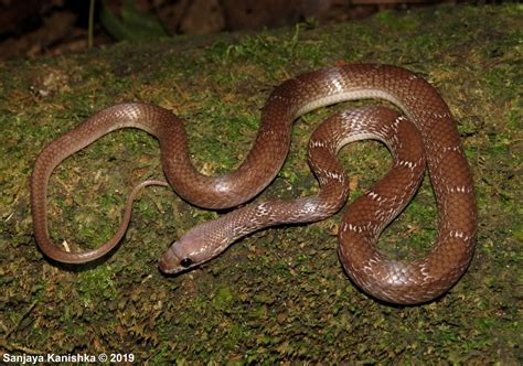
[[[126,1],[96,1],[94,44],[115,42],[100,21],[105,6],[121,15]],[[130,0],[139,11],[158,20],[166,33],[207,34],[222,31],[256,31],[297,22],[342,22],[362,19],[387,9],[410,9],[447,3],[497,1],[405,0]],[[87,49],[89,1],[0,1],[0,60],[36,57]]]

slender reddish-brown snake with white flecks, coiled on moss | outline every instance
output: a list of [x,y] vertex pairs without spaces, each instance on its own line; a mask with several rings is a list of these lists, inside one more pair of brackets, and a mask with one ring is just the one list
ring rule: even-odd
[[[226,208],[252,200],[274,180],[287,157],[295,119],[322,106],[361,98],[382,98],[399,107],[416,126],[423,142],[416,142],[416,130],[408,127],[407,118],[386,108],[360,108],[337,116],[314,132],[325,136],[331,142],[312,139],[309,144],[311,166],[319,165],[314,162],[314,154],[320,157],[321,164],[329,161],[327,168],[320,166],[320,172],[316,172],[320,181],[316,196],[295,202],[252,204],[203,224],[173,243],[160,259],[160,269],[167,273],[186,270],[215,257],[253,230],[278,223],[317,220],[335,213],[346,197],[346,177],[335,160],[322,159],[321,154],[334,157],[344,143],[370,137],[387,144],[395,154],[395,163],[384,180],[345,212],[339,233],[340,260],[351,279],[377,299],[401,304],[435,299],[458,281],[473,255],[477,227],[473,182],[456,123],[445,101],[423,78],[387,65],[354,64],[327,68],[297,76],[276,87],[263,109],[260,128],[247,158],[237,170],[223,176],[205,176],[193,168],[182,123],[166,109],[132,103],[115,105],[95,114],[52,141],[36,159],[31,177],[36,243],[47,257],[61,262],[83,263],[97,259],[124,236],[136,193],[145,185],[167,185],[160,181],[147,181],[135,187],[117,233],[99,248],[67,252],[53,245],[46,218],[51,173],[65,158],[115,129],[135,127],[157,137],[163,171],[175,192],[201,207]],[[360,125],[371,126],[370,130],[360,130]],[[341,134],[348,126],[352,129]],[[412,150],[408,159],[402,155],[405,142],[396,141],[395,134],[384,136],[385,130],[397,129],[407,131],[403,133],[406,133]],[[321,132],[325,130],[330,130],[332,136]],[[420,150],[415,149],[418,144]],[[375,243],[416,191],[418,181],[415,177],[423,173],[425,165],[423,151],[437,198],[438,237],[423,259],[410,263],[388,260],[376,250]],[[299,203],[301,206],[296,206]]]

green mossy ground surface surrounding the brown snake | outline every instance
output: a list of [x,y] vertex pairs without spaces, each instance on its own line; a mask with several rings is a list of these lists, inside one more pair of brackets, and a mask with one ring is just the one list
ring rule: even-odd
[[[0,65],[2,352],[127,352],[140,362],[180,365],[521,363],[521,9],[391,11],[346,24],[122,43]],[[38,251],[28,190],[34,159],[96,110],[121,100],[174,110],[186,120],[196,165],[221,173],[248,152],[274,86],[357,61],[420,73],[458,121],[478,192],[478,248],[467,273],[438,301],[389,306],[361,293],[338,261],[340,214],[256,233],[198,270],[162,277],[157,258],[167,246],[217,214],[160,187],[140,194],[126,238],[105,261],[55,266]],[[343,107],[296,123],[289,158],[259,201],[316,191],[307,141]],[[158,154],[154,139],[127,130],[65,161],[49,193],[53,239],[84,249],[107,240],[131,187],[162,177]],[[345,148],[341,159],[351,200],[389,164],[386,149],[372,142]],[[421,256],[436,236],[436,217],[426,180],[381,248],[397,258]]]

